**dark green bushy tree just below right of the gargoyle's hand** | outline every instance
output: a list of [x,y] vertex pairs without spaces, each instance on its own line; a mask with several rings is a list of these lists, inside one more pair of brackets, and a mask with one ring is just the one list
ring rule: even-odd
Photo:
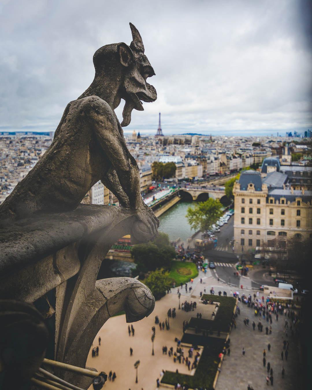
[[168,234],[159,232],[154,241],[147,244],[133,245],[131,255],[137,271],[154,271],[156,268],[170,269],[171,261],[176,257],[176,250],[170,245]]

